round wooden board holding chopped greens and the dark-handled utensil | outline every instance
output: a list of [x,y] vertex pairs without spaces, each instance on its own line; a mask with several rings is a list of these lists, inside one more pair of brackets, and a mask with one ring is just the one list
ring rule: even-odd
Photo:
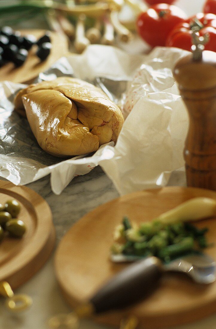
[[[216,199],[216,192],[181,187],[145,190],[124,195],[82,217],[61,240],[55,256],[57,279],[67,302],[74,307],[87,300],[126,266],[113,264],[109,259],[113,231],[123,215],[140,223],[200,196]],[[206,253],[216,260],[216,218],[196,225],[209,228],[207,238],[214,246]],[[184,274],[165,273],[159,289],[146,300],[128,310],[95,317],[95,321],[119,326],[124,315],[135,315],[140,328],[162,328],[195,321],[214,312],[216,282],[200,285]]]

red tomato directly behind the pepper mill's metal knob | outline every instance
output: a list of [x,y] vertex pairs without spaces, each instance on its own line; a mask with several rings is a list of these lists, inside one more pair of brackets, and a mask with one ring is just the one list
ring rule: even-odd
[[192,26],[198,23],[199,34],[209,34],[209,41],[205,44],[205,50],[216,52],[216,15],[198,13],[187,21],[180,23],[170,32],[166,46],[191,50],[192,46]]

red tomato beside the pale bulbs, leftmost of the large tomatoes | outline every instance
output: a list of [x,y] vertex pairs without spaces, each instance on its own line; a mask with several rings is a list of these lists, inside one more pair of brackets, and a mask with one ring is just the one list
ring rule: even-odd
[[137,30],[150,46],[165,46],[170,31],[186,18],[186,14],[180,8],[161,3],[151,6],[147,12],[138,16]]

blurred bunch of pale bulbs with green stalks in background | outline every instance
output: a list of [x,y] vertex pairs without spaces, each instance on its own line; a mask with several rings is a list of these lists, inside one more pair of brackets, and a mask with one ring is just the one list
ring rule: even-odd
[[[147,9],[137,0],[125,2],[135,13]],[[124,0],[23,0],[15,4],[5,1],[0,10],[0,26],[13,26],[40,15],[51,30],[66,34],[70,41],[75,38],[75,51],[82,52],[90,43],[113,44],[116,36],[118,41],[128,42],[133,37],[135,20],[128,24],[119,19],[123,5]]]

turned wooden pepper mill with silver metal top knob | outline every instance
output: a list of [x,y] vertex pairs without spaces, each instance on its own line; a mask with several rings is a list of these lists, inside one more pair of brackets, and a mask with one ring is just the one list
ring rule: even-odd
[[176,64],[173,74],[189,114],[187,185],[216,190],[216,53],[203,51],[207,40],[194,31],[192,53]]

